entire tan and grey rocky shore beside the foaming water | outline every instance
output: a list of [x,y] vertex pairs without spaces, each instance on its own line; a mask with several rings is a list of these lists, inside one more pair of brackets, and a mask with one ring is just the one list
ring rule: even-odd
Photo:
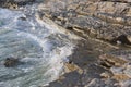
[[66,74],[46,87],[131,87],[130,0],[45,0],[37,14],[83,38]]

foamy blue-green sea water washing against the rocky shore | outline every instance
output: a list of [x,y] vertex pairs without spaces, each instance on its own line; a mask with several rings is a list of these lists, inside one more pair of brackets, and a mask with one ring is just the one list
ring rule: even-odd
[[[75,38],[21,11],[0,9],[0,87],[38,87],[56,79]],[[25,20],[23,20],[23,17]],[[5,67],[8,57],[21,64]]]

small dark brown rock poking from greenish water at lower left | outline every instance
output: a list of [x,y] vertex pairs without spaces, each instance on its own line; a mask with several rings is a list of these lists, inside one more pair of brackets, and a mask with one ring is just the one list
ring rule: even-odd
[[16,59],[16,58],[7,58],[4,60],[4,66],[5,67],[15,66],[17,63],[19,63],[19,59]]

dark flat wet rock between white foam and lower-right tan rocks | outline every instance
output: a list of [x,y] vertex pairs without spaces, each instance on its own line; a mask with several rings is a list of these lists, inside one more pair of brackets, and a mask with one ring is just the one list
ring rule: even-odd
[[[97,57],[104,52],[116,50],[117,49],[110,47],[109,45],[105,45],[92,39],[81,40],[81,42],[78,45],[78,48],[74,50],[74,54],[69,58],[72,62],[69,63],[70,65],[66,64],[68,72],[66,72],[66,74],[62,75],[58,80],[50,83],[47,87],[116,86],[116,79],[109,77],[105,79],[105,77],[100,76],[100,74],[107,70],[97,63]],[[109,76],[109,74],[107,74],[107,76]]]

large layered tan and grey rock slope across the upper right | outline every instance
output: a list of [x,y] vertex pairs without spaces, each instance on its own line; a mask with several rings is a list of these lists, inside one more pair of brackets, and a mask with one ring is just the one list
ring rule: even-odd
[[130,46],[130,0],[50,0],[39,5],[39,12],[41,18],[49,17],[80,36]]

